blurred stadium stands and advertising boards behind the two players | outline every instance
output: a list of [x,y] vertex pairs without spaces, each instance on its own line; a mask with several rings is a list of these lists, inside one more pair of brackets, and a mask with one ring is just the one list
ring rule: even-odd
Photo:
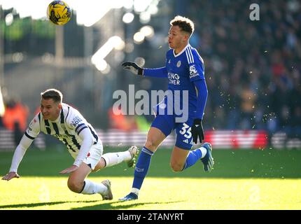
[[[45,19],[49,2],[0,1],[1,151],[13,151],[49,87],[62,90],[105,146],[142,146],[153,116],[114,116],[113,92],[132,84],[166,90],[168,80],[137,78],[120,64],[164,66],[175,15],[195,21],[190,44],[205,62],[205,140],[218,149],[300,150],[299,1],[69,0],[73,16],[62,27]],[[259,21],[249,18],[251,3],[260,6]],[[172,135],[162,146],[173,144]],[[43,134],[35,146],[62,147]]]

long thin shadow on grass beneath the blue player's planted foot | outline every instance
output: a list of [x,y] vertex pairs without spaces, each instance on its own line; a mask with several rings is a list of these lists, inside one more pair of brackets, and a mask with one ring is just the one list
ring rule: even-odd
[[[95,204],[92,206],[87,206],[87,207],[78,207],[78,208],[73,208],[71,210],[116,210],[116,209],[131,209],[137,206],[143,206],[145,204],[174,204],[174,203],[179,203],[179,202],[184,202],[184,201],[175,201],[175,202],[141,202],[137,203],[137,201],[134,202],[107,202],[104,204]],[[130,204],[128,204],[130,203]],[[113,204],[118,204],[117,206],[113,206]]]

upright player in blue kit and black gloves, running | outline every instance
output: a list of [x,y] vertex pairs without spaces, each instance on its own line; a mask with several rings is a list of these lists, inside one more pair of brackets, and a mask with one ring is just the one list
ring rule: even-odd
[[[139,190],[151,164],[151,157],[162,141],[176,130],[176,144],[172,151],[170,165],[174,172],[181,172],[201,160],[204,171],[210,172],[214,159],[211,144],[204,143],[191,151],[193,142],[204,140],[202,119],[207,102],[207,85],[204,78],[204,61],[197,50],[189,44],[194,23],[188,18],[176,16],[170,21],[168,34],[169,49],[165,66],[156,69],[141,68],[134,62],[124,62],[123,68],[137,76],[169,78],[170,94],[155,108],[155,120],[148,131],[146,144],[141,149],[134,171],[134,181],[129,195],[120,201],[137,200]],[[177,96],[177,97],[176,97]],[[188,98],[186,99],[185,98]],[[187,102],[188,101],[188,102]],[[169,110],[172,107],[172,112]],[[183,108],[179,114],[176,109]]]

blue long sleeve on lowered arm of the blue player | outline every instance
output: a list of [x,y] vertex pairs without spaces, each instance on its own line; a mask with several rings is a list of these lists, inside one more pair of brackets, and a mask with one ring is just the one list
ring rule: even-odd
[[195,80],[193,83],[195,84],[195,87],[197,87],[197,113],[195,113],[195,118],[203,119],[208,96],[206,81],[204,79],[199,79]]

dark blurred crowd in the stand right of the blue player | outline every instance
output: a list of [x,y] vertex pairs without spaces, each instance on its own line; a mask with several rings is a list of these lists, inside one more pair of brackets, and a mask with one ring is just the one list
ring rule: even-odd
[[301,134],[301,3],[190,1],[190,44],[204,58],[209,89],[207,129]]

